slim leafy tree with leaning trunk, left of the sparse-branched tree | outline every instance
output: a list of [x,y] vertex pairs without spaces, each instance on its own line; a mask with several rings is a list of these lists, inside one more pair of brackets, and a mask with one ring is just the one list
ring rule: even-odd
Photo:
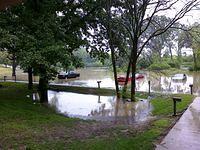
[[119,97],[116,63],[120,55],[124,55],[126,46],[122,44],[124,36],[119,35],[121,29],[117,26],[116,18],[113,16],[112,8],[117,3],[118,1],[112,0],[96,1],[95,5],[98,6],[96,13],[93,15],[92,21],[87,23],[89,30],[87,28],[83,33],[87,37],[87,48],[92,57],[96,57],[103,62],[109,57],[108,53],[111,53],[115,89],[117,97]]

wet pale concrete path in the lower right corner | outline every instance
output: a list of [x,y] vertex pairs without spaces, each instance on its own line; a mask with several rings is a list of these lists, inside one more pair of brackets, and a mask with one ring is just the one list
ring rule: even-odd
[[156,150],[200,150],[200,97],[195,98]]

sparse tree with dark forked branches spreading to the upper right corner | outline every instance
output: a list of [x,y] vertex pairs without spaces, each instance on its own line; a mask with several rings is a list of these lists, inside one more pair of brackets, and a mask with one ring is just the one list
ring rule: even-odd
[[[136,64],[139,56],[145,49],[146,45],[151,39],[165,33],[170,28],[173,28],[177,21],[184,17],[192,8],[197,6],[199,2],[197,0],[190,0],[184,3],[184,6],[178,10],[173,17],[164,26],[159,26],[155,16],[160,13],[164,13],[167,10],[172,9],[179,0],[126,0],[120,1],[121,7],[116,9],[118,13],[119,26],[123,27],[127,31],[127,45],[130,45],[130,64],[132,70],[131,81],[131,100],[134,100],[135,96],[135,72]],[[148,15],[147,15],[148,14]],[[156,28],[144,38],[144,34],[148,31],[149,27],[156,26]],[[129,69],[129,67],[128,67]]]

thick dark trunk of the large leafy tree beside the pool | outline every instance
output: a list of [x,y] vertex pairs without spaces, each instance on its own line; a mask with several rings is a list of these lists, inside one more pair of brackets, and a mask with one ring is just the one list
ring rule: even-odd
[[40,102],[48,103],[48,78],[46,69],[41,66],[40,67],[40,79],[39,79],[39,93],[40,93]]

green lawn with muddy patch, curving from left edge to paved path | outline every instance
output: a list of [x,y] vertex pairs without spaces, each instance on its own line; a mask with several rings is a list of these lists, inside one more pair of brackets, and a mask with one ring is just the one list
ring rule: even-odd
[[[32,91],[22,83],[0,83],[0,149],[153,149],[175,122],[172,100],[152,100],[156,119],[142,125],[113,125],[107,122],[66,118],[45,105],[34,104]],[[179,95],[178,111],[193,96]]]

